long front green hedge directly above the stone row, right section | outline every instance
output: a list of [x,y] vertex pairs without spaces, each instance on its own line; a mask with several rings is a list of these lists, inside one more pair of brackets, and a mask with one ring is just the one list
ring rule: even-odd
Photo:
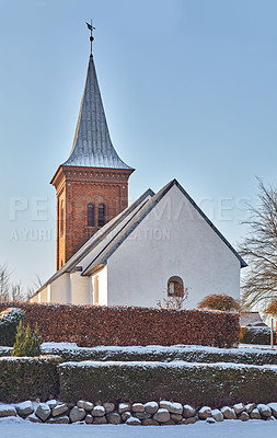
[[146,403],[174,400],[211,407],[277,400],[277,369],[227,364],[66,362],[58,367],[65,402]]

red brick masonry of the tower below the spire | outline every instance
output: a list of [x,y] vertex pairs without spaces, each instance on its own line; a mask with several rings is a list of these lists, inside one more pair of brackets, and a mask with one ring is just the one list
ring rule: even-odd
[[[59,166],[51,180],[57,192],[57,269],[100,229],[100,204],[105,206],[105,222],[128,206],[131,173],[132,170]],[[94,227],[88,227],[88,204],[94,205]]]

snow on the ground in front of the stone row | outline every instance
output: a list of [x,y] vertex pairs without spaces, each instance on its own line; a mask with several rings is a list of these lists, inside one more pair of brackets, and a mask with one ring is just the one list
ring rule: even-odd
[[20,418],[0,418],[3,438],[261,438],[276,437],[277,420],[226,420],[186,426],[114,426],[32,424]]

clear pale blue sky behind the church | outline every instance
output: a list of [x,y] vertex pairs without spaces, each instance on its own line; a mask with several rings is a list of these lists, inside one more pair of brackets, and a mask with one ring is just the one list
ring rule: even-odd
[[49,181],[72,146],[91,18],[130,199],[176,177],[236,245],[255,175],[277,180],[276,16],[274,0],[2,0],[0,264],[24,285],[55,270]]

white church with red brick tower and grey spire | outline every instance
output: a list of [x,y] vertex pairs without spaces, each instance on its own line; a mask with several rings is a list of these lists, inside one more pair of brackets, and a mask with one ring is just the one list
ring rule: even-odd
[[240,298],[245,262],[173,180],[128,205],[135,169],[109,137],[92,54],[73,146],[51,184],[57,194],[57,272],[38,303],[157,307],[187,295]]

